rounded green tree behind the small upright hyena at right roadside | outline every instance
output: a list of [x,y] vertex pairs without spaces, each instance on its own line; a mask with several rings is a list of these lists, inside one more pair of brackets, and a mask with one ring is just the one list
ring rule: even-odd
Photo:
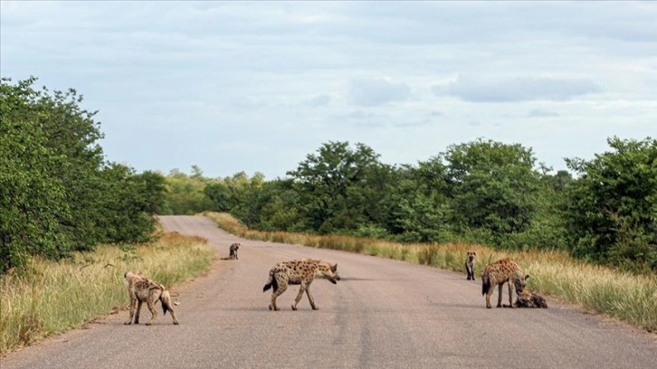
[[479,139],[448,147],[442,159],[457,225],[490,232],[497,241],[528,228],[539,189],[531,149]]

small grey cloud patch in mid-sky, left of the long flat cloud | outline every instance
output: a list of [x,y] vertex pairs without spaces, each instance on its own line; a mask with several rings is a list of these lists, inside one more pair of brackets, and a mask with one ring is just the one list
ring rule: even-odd
[[349,89],[351,103],[367,107],[404,101],[410,95],[411,88],[405,83],[396,83],[385,79],[352,80]]

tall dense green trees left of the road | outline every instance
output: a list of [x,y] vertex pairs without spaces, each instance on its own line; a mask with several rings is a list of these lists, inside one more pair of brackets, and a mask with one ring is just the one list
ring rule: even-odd
[[164,175],[107,162],[96,112],[76,90],[0,80],[0,275],[99,243],[147,241]]

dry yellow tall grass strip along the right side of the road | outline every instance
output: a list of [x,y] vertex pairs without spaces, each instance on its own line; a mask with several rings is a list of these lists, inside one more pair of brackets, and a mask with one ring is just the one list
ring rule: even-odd
[[[219,227],[240,237],[304,246],[351,251],[388,259],[464,271],[465,253],[476,251],[475,273],[491,261],[510,257],[531,276],[528,289],[576,307],[624,320],[648,331],[657,331],[657,276],[630,275],[573,260],[562,251],[504,252],[477,244],[400,244],[376,239],[319,236],[302,233],[249,230],[227,213],[204,213]],[[465,279],[465,277],[463,277]]]

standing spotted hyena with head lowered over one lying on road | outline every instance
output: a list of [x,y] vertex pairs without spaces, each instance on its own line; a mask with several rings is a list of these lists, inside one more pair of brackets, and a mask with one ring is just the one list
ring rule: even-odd
[[529,279],[529,275],[523,276],[518,263],[510,258],[491,262],[481,273],[481,295],[486,295],[486,307],[491,307],[490,295],[492,295],[496,285],[499,287],[497,307],[502,307],[502,287],[504,283],[509,283],[509,305],[512,305],[511,283],[516,288],[516,294],[519,295],[525,289],[527,279]]

